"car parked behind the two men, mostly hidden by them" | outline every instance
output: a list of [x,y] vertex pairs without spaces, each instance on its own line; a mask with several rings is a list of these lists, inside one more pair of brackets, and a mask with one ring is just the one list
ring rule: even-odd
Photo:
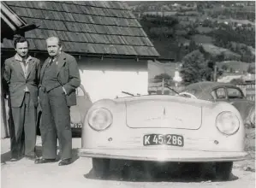
[[[92,101],[89,94],[86,92],[83,85],[76,89],[76,105],[70,108],[71,129],[73,136],[81,136],[82,121],[86,116],[86,112],[92,106]],[[37,132],[40,134],[39,123],[41,120],[42,111],[39,108],[39,118],[37,123]]]

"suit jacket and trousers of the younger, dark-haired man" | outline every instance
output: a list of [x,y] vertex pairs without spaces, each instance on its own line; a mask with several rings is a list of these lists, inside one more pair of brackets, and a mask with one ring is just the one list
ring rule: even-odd
[[[4,62],[3,78],[9,85],[14,123],[14,126],[10,127],[11,155],[13,157],[20,157],[24,152],[26,156],[35,155],[40,68],[40,61],[34,57],[30,58],[27,62],[26,76],[21,62],[15,57]],[[29,92],[26,92],[26,87]],[[22,139],[25,139],[25,142]]]

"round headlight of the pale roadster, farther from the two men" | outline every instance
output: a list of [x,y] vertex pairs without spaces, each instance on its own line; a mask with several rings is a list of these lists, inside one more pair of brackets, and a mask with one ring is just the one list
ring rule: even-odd
[[232,135],[239,129],[240,121],[232,112],[222,112],[217,115],[216,126],[220,132]]

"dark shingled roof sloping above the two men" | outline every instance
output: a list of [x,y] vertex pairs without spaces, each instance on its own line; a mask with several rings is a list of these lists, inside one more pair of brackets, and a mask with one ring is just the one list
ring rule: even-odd
[[[71,54],[158,57],[140,23],[123,2],[5,2],[27,23],[39,28],[26,32],[32,51],[45,51],[45,38],[58,36]],[[2,50],[13,49],[3,40]]]

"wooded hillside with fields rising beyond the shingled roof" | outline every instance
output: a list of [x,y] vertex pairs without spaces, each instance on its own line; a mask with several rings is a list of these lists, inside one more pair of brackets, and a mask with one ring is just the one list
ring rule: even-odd
[[253,1],[127,3],[162,57],[180,62],[203,46],[209,58],[255,62]]

